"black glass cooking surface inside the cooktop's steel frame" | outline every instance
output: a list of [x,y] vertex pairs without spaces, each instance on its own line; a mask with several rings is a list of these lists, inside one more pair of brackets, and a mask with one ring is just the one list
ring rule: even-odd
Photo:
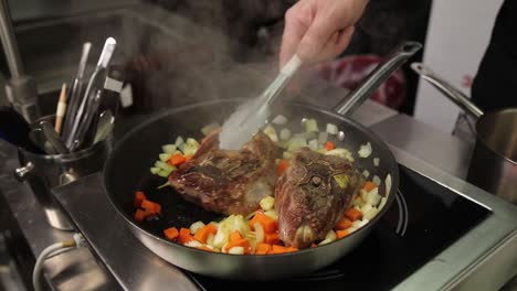
[[[490,214],[403,165],[400,170],[394,203],[357,249],[320,271],[284,282],[303,290],[388,290]],[[232,285],[231,281],[187,273],[202,290]],[[253,283],[260,289],[271,284]]]

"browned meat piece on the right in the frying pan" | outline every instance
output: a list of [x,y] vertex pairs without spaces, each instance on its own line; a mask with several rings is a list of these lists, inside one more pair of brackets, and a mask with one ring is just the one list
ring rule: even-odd
[[276,184],[282,241],[303,248],[325,238],[362,184],[348,160],[302,148]]

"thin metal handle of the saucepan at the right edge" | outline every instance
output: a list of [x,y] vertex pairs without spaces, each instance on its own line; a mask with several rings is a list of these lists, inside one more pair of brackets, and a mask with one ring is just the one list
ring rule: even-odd
[[449,82],[436,75],[422,63],[412,63],[411,68],[416,72],[421,78],[430,83],[434,88],[445,95],[451,101],[460,106],[465,112],[474,118],[483,116],[483,110],[475,106],[469,98]]

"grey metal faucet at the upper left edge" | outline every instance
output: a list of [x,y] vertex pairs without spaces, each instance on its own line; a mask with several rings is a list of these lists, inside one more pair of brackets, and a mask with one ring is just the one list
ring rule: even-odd
[[41,117],[38,89],[34,79],[24,74],[8,0],[0,0],[0,37],[11,74],[6,85],[7,98],[28,122],[33,122]]

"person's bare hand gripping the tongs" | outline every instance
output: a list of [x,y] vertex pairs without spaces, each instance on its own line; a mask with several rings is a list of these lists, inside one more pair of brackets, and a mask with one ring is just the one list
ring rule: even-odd
[[296,53],[304,63],[339,55],[350,43],[354,24],[368,0],[300,0],[285,13],[281,68]]

